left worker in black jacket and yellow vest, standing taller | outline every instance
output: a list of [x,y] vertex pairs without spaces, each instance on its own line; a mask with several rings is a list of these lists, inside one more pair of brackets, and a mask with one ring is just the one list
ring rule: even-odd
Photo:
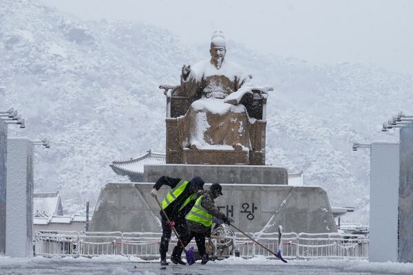
[[[184,235],[187,232],[185,216],[191,210],[195,203],[196,193],[198,190],[203,190],[204,181],[200,177],[193,177],[191,181],[186,179],[175,179],[172,177],[162,176],[156,181],[156,184],[151,190],[153,197],[158,197],[158,190],[163,185],[171,187],[171,190],[167,193],[165,199],[162,200],[162,209],[167,214],[171,223],[168,223],[167,218],[160,211],[162,217],[162,237],[160,238],[159,252],[160,252],[160,264],[168,265],[167,252],[169,246],[169,240],[171,239],[171,228],[175,226],[178,234]],[[174,259],[171,257],[173,263],[181,263],[182,260]]]

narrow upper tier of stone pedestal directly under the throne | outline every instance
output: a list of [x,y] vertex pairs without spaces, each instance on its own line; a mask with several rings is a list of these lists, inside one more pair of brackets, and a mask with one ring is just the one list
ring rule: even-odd
[[163,175],[185,179],[199,176],[207,183],[219,184],[288,184],[286,168],[275,166],[187,164],[144,166],[143,181],[145,182],[155,182]]

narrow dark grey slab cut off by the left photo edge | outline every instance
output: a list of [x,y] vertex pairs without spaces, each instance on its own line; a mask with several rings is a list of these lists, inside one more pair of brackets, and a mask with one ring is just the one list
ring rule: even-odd
[[7,125],[0,120],[0,255],[6,252]]

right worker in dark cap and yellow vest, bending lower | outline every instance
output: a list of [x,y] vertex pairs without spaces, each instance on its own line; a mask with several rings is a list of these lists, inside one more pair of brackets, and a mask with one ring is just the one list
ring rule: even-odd
[[[198,193],[198,199],[187,214],[187,234],[182,236],[182,243],[186,246],[193,238],[195,238],[198,252],[201,255],[201,263],[205,264],[209,261],[209,256],[205,250],[205,237],[211,236],[211,225],[213,217],[230,224],[230,220],[215,206],[214,199],[222,195],[222,187],[220,184],[212,184],[209,191]],[[180,259],[182,247],[176,245],[173,248],[172,256],[175,259]]]

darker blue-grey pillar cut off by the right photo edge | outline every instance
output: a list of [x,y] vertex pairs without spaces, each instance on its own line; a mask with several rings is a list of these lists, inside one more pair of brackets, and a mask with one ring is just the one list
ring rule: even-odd
[[[384,217],[383,217],[384,218]],[[385,217],[388,219],[388,217]],[[400,129],[399,261],[413,262],[413,126]]]

